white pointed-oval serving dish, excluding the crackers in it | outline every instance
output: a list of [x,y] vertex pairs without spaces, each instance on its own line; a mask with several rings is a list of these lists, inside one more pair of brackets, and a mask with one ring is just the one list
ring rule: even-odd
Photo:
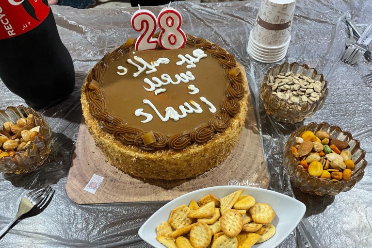
[[275,248],[291,234],[305,215],[306,206],[304,203],[275,191],[248,186],[216,186],[195,190],[168,202],[146,220],[138,231],[138,235],[155,248],[165,248],[156,240],[156,227],[163,221],[168,220],[174,208],[182,204],[188,206],[192,199],[198,201],[199,198],[208,194],[223,198],[239,189],[243,189],[244,195],[254,197],[257,202],[270,204],[276,214],[271,222],[276,229],[275,235],[266,242],[254,245],[252,248]]

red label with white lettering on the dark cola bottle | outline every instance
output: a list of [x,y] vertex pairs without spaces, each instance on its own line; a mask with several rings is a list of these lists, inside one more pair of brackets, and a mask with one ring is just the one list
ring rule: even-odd
[[1,0],[0,40],[26,33],[49,14],[48,0]]

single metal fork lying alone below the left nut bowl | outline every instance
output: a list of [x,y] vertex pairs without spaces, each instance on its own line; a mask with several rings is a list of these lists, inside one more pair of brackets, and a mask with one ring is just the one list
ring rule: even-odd
[[41,209],[44,207],[45,203],[48,202],[49,197],[54,193],[54,189],[52,187],[45,186],[39,189],[34,189],[25,195],[21,202],[19,203],[18,212],[13,220],[0,231],[0,237],[13,225],[14,222],[21,216],[24,215],[36,206],[37,208]]

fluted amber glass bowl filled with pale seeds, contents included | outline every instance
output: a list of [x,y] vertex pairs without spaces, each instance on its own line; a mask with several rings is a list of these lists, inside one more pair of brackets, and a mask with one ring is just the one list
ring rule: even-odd
[[307,65],[284,62],[271,67],[262,79],[260,97],[266,113],[283,123],[314,115],[328,95],[327,81]]

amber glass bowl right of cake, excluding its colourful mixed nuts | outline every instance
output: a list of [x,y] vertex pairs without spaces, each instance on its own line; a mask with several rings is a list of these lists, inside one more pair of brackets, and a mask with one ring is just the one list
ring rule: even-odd
[[[315,133],[319,130],[329,132],[331,138],[336,138],[348,143],[348,150],[352,153],[352,158],[355,163],[355,169],[349,181],[332,182],[328,179],[320,179],[308,174],[302,166],[298,166],[298,160],[292,155],[291,151],[291,146],[295,143],[295,137],[300,136],[300,134],[305,131],[312,131]],[[367,165],[367,161],[364,160],[365,155],[366,152],[360,149],[359,141],[353,139],[350,132],[343,132],[340,127],[330,126],[325,122],[321,124],[311,122],[309,125],[301,126],[297,131],[291,133],[284,146],[283,165],[286,167],[293,185],[302,192],[317,196],[335,196],[341,191],[352,189],[356,182],[362,179],[364,168]]]

